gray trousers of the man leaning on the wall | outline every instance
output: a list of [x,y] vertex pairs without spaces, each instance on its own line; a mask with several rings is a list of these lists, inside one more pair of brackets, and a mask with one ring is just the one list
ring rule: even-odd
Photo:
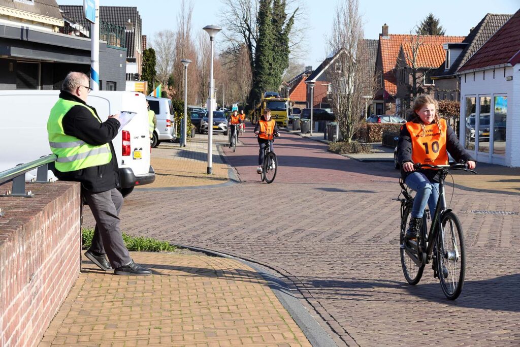
[[113,268],[127,265],[132,258],[126,249],[119,227],[123,196],[115,188],[99,193],[82,189],[82,194],[96,220],[90,250],[107,254]]

